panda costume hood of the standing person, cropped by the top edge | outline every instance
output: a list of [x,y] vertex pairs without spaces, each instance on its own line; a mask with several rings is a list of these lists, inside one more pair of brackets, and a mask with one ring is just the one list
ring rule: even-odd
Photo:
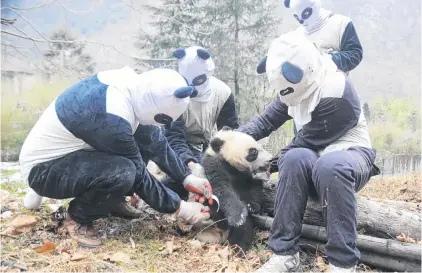
[[321,29],[331,14],[331,11],[321,7],[320,0],[285,0],[284,5],[292,10],[306,34]]

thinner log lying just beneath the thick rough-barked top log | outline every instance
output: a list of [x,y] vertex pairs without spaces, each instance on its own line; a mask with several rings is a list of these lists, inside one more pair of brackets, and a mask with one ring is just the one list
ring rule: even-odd
[[[258,227],[269,230],[273,219],[267,216],[253,216]],[[302,237],[321,242],[327,242],[327,233],[324,227],[302,225]],[[396,240],[358,235],[357,247],[359,250],[374,252],[389,257],[403,258],[406,260],[421,261],[420,244],[402,243]]]

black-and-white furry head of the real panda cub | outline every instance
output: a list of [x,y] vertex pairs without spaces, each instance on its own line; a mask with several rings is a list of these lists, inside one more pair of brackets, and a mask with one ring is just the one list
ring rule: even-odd
[[224,126],[210,141],[208,156],[219,156],[239,172],[251,176],[267,172],[272,155],[251,136]]

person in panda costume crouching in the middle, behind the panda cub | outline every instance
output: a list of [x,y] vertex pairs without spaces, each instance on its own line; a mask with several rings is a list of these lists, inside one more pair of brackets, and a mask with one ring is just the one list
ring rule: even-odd
[[215,64],[204,48],[178,48],[173,56],[179,73],[195,91],[188,109],[167,126],[166,137],[179,158],[194,173],[203,175],[201,158],[215,128],[239,127],[234,96],[227,84],[213,76]]

